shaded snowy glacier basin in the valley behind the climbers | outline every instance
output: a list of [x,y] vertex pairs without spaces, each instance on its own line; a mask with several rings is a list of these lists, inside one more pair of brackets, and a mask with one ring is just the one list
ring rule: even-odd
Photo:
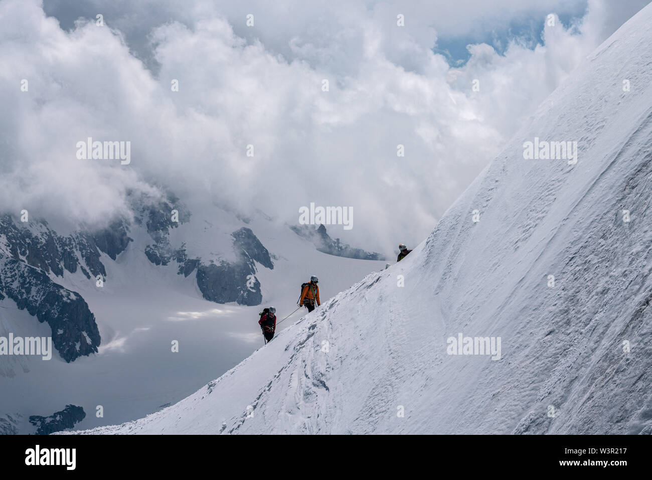
[[[238,258],[232,251],[235,243],[232,233],[249,229],[273,260],[273,269],[257,260],[253,260],[253,268],[261,301],[265,306],[276,306],[279,319],[297,308],[299,287],[310,275],[321,278],[321,296],[326,301],[364,275],[385,267],[385,262],[320,253],[287,225],[262,213],[239,219],[219,207],[190,211],[189,219],[170,228],[169,235],[158,237],[164,241],[156,244],[145,222],[142,228],[132,224],[128,230],[130,240],[120,243],[123,250],[114,258],[106,253],[110,248],[89,248],[87,254],[80,254],[80,248],[71,248],[72,255],[66,256],[67,250],[48,248],[53,243],[47,241],[49,233],[29,237],[22,230],[5,230],[16,233],[10,243],[18,245],[19,261],[12,262],[33,273],[18,278],[25,281],[31,277],[35,280],[50,278],[51,289],[67,289],[83,298],[93,314],[93,325],[96,322],[101,342],[98,342],[98,353],[78,356],[70,363],[57,351],[52,352],[49,361],[33,355],[0,355],[0,430],[6,415],[12,420],[7,421],[11,428],[5,430],[35,432],[29,424],[31,415],[49,417],[69,404],[81,406],[86,413],[76,428],[137,419],[190,395],[263,345],[258,326],[258,312],[263,307],[235,301],[238,290],[247,289],[246,276],[242,282],[230,286],[229,291],[235,292],[231,297],[233,301],[209,301],[194,273],[187,277],[179,273],[183,263],[176,261],[177,255],[166,265],[156,265],[147,255],[150,245],[161,247],[155,248],[160,258],[167,252],[178,251],[183,245],[188,258],[201,258],[205,265],[210,265],[211,260],[216,265],[222,260],[235,263]],[[38,234],[37,223],[28,227]],[[337,232],[336,226],[333,232]],[[60,245],[63,245],[59,241],[64,238],[62,235],[59,233],[56,237]],[[5,262],[14,258],[9,249],[1,248],[8,244],[7,238],[0,238],[0,257],[5,254]],[[23,244],[25,252],[29,250],[29,253],[22,253]],[[79,245],[93,247],[93,241],[83,244],[80,241]],[[248,256],[258,258],[258,250],[250,248],[255,247],[253,243],[245,247]],[[59,255],[60,252],[64,254]],[[57,269],[59,258],[78,258],[80,267],[74,273],[65,268]],[[23,262],[27,259],[35,264],[40,264],[40,259],[48,260],[49,273],[46,275],[42,269],[27,265]],[[83,273],[82,267],[91,273],[90,278]],[[96,286],[95,271],[104,277],[102,288]],[[20,282],[4,275],[0,286],[3,284],[5,287],[20,286]],[[12,292],[14,290],[26,289],[12,288]],[[217,288],[215,291],[219,293]],[[8,337],[9,333],[23,338],[52,335],[52,325],[39,323],[28,310],[19,308],[13,299],[20,300],[18,294],[10,296],[3,288],[1,292],[6,294],[4,299],[0,295],[0,337]],[[33,293],[34,290],[31,296]],[[35,301],[34,305],[51,312],[42,301]],[[300,318],[299,312],[295,315]],[[281,323],[279,329],[291,325],[293,319],[295,317]],[[64,329],[67,320],[60,320]],[[173,340],[178,340],[179,352],[171,352]],[[44,392],[47,395],[43,395]],[[98,406],[102,406],[102,417],[95,414]]]

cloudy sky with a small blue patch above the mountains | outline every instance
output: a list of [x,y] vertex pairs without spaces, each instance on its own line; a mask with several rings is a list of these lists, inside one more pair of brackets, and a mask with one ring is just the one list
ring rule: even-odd
[[[353,207],[333,236],[413,247],[647,3],[0,0],[0,205],[102,224],[166,185],[290,223]],[[131,163],[78,160],[89,136],[130,141]]]

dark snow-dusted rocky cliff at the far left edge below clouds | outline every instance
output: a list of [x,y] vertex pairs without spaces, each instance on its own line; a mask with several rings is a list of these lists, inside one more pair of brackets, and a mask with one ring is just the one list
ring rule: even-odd
[[89,280],[106,277],[101,252],[115,260],[131,240],[124,221],[97,232],[57,235],[45,220],[21,224],[0,218],[0,299],[46,322],[52,344],[65,361],[97,352],[100,333],[82,295],[56,282],[78,269]]

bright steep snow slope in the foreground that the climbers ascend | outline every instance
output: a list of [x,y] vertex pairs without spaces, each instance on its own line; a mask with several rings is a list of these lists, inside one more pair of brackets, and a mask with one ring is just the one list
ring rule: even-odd
[[[535,138],[578,142],[578,162],[526,160]],[[652,5],[405,260],[185,400],[92,432],[652,432],[651,138]],[[500,355],[449,354],[460,334]]]

